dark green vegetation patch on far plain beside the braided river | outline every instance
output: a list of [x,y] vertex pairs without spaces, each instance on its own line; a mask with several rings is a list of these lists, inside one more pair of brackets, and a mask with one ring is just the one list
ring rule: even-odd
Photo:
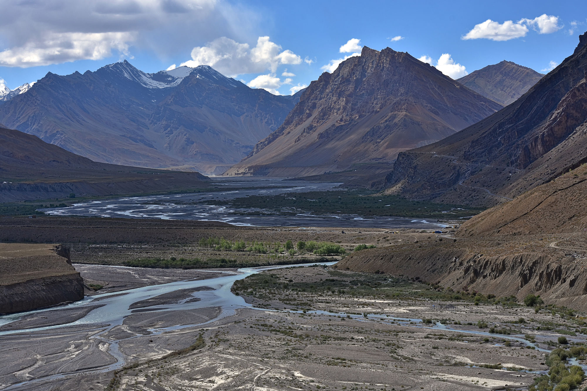
[[[248,197],[223,200],[221,202],[233,208],[257,208],[274,211],[279,214],[306,212],[417,218],[460,218],[475,215],[484,210],[483,208],[465,207],[463,205],[411,201],[397,197],[397,195],[373,194],[375,193],[367,190],[309,191],[308,193],[249,195]],[[205,201],[207,204],[214,205],[218,204],[218,202],[218,200]]]

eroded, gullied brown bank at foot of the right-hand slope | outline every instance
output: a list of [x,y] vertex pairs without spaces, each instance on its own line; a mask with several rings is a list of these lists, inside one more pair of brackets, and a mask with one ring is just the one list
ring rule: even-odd
[[439,284],[454,291],[478,291],[498,297],[537,294],[549,303],[587,310],[587,272],[572,256],[518,253],[487,256],[460,245],[417,245],[363,250],[338,268],[383,272]]

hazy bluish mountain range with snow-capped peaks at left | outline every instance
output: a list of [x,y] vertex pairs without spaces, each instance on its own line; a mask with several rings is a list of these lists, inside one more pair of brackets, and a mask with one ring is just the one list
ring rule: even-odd
[[277,129],[295,99],[210,66],[144,73],[125,60],[48,73],[0,106],[0,122],[95,161],[214,174]]

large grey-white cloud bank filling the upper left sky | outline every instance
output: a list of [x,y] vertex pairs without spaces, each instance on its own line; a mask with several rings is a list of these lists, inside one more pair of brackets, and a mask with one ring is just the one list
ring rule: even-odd
[[247,36],[260,18],[220,0],[4,0],[0,9],[0,66],[21,68],[132,58],[131,48],[175,55],[194,37]]

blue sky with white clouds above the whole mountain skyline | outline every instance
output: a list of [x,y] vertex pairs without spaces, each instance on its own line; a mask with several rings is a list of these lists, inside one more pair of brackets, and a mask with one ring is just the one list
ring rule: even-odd
[[455,78],[504,59],[546,73],[587,31],[580,1],[0,0],[0,10],[0,79],[10,89],[128,59],[145,72],[208,63],[288,95],[363,45],[408,52]]

